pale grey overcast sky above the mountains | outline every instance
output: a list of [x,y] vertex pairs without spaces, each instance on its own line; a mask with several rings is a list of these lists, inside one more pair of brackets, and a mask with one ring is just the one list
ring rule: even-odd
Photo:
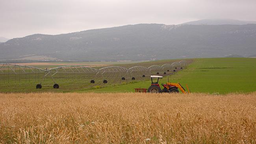
[[205,18],[256,20],[256,0],[0,0],[0,36]]

